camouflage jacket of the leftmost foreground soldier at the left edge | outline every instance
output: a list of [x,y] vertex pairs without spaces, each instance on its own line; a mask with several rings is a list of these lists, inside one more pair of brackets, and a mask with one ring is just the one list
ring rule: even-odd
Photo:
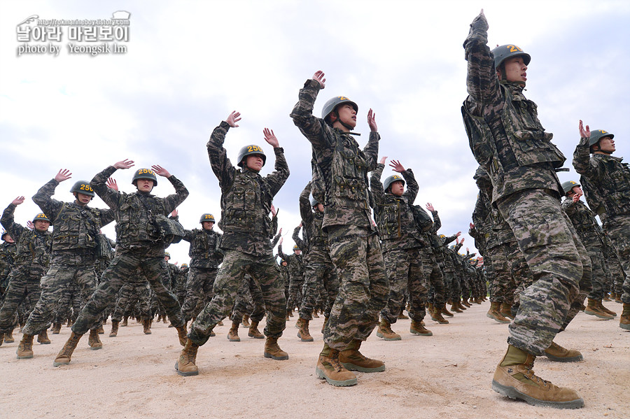
[[15,205],[9,204],[2,213],[0,223],[16,243],[15,267],[48,268],[50,251],[52,250],[52,233],[40,232],[38,229],[27,229],[13,219]]

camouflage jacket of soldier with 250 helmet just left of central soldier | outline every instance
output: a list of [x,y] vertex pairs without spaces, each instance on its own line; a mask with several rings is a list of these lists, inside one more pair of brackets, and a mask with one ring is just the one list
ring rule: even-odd
[[230,125],[222,121],[207,144],[212,171],[221,187],[222,249],[238,250],[249,255],[272,255],[272,220],[269,219],[274,196],[289,176],[281,147],[274,148],[274,171],[264,178],[245,167],[236,169],[223,148]]

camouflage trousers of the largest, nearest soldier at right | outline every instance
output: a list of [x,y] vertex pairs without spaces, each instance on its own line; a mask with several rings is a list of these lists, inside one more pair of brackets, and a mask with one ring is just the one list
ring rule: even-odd
[[520,295],[507,343],[542,355],[580,308],[591,283],[591,261],[558,199],[524,190],[498,201],[533,274]]

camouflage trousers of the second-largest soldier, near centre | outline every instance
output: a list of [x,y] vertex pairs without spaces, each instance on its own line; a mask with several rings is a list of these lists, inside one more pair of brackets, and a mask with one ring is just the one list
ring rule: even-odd
[[386,306],[389,282],[381,243],[370,229],[351,225],[328,227],[330,259],[337,268],[339,293],[324,328],[330,348],[344,350],[353,341],[365,341]]

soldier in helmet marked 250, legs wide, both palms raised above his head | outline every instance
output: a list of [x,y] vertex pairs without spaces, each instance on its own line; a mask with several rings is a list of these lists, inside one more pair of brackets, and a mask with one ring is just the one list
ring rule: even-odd
[[265,128],[265,141],[274,148],[274,171],[264,178],[260,169],[267,156],[258,145],[246,145],[238,156],[237,170],[223,148],[230,127],[238,127],[240,113],[234,111],[214,129],[207,144],[210,165],[221,186],[221,229],[223,264],[214,285],[214,297],[190,326],[188,341],[175,369],[182,376],[199,374],[195,364],[197,349],[208,341],[214,326],[230,313],[245,274],[260,286],[267,308],[265,351],[267,358],[288,360],[278,346],[285,327],[286,299],[278,264],[274,260],[272,220],[269,219],[272,199],[289,176],[284,150],[271,129]]

